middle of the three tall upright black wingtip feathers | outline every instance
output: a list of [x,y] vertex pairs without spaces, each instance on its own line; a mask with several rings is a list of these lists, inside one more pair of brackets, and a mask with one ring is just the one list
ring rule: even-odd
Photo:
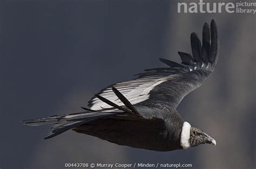
[[210,53],[210,41],[211,41],[211,34],[210,34],[210,26],[205,23],[203,27],[203,46],[201,51],[202,61],[208,64],[208,56]]

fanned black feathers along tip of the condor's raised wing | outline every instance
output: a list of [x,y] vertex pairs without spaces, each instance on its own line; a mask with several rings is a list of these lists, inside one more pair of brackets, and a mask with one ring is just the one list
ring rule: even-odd
[[209,26],[208,23],[204,23],[202,43],[197,33],[191,33],[192,55],[185,52],[178,52],[181,64],[159,58],[161,62],[170,66],[172,70],[170,70],[170,68],[145,69],[144,73],[137,74],[138,79],[153,75],[186,73],[196,71],[197,69],[205,69],[206,72],[213,72],[218,60],[219,40],[217,25],[214,19],[211,20],[210,25],[211,26]]

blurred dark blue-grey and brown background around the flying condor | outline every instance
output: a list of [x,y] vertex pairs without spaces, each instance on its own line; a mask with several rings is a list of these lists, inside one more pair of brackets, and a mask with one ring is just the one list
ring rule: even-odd
[[[0,1],[0,168],[77,162],[255,168],[255,15],[177,13],[177,2]],[[217,67],[178,111],[217,146],[154,152],[72,131],[44,140],[50,126],[19,123],[81,111],[100,89],[163,67],[159,57],[180,61],[177,51],[191,53],[190,33],[201,37],[212,18],[220,37]]]

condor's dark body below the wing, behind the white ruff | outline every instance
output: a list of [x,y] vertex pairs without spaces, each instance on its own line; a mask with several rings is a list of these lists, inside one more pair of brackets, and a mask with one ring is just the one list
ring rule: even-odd
[[[147,108],[134,106],[142,115],[147,115]],[[183,126],[183,119],[174,110],[169,113],[165,110],[155,109],[164,118],[157,118],[156,114],[152,119],[136,119],[136,117],[114,115],[98,119],[73,129],[76,132],[84,133],[107,140],[118,145],[126,145],[139,149],[154,151],[171,151],[182,149],[180,146],[180,134]],[[153,111],[152,111],[153,112]],[[170,128],[166,128],[170,126]]]

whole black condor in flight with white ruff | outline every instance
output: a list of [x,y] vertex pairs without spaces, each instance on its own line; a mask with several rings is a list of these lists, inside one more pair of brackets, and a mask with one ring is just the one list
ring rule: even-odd
[[180,101],[202,85],[218,60],[218,30],[205,23],[202,44],[191,34],[192,55],[178,52],[181,64],[161,59],[169,67],[146,69],[134,80],[101,90],[83,112],[22,121],[24,125],[54,124],[45,139],[67,130],[119,145],[154,151],[187,149],[216,141],[177,112]]

